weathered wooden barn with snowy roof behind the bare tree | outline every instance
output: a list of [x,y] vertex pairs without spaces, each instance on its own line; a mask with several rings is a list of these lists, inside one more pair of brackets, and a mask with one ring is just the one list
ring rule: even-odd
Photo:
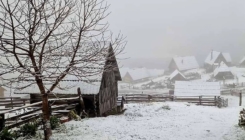
[[[91,77],[78,79],[76,76],[67,75],[52,93],[57,97],[77,96],[77,88],[81,89],[85,110],[95,116],[103,116],[108,111],[117,108],[118,81],[121,81],[117,60],[111,44],[107,47],[107,55],[104,56],[104,65],[94,69],[101,69],[100,73]],[[21,86],[28,85],[32,81],[22,81]],[[44,81],[45,88],[49,89],[53,81]],[[30,94],[30,102],[37,102],[40,91],[34,83],[24,89],[16,89],[14,94]]]

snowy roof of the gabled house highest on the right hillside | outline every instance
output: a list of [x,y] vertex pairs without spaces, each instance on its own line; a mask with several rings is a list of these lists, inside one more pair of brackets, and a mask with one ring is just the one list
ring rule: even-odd
[[223,55],[223,57],[225,58],[226,62],[231,62],[231,56],[230,56],[229,53],[221,53],[221,52],[217,52],[217,51],[211,51],[208,54],[208,56],[207,56],[207,58],[205,60],[205,63],[213,65],[220,54]]

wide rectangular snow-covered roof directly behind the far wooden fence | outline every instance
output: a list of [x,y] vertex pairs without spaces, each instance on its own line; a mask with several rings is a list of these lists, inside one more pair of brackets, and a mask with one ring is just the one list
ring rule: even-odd
[[219,82],[189,82],[176,81],[174,95],[176,96],[220,96]]

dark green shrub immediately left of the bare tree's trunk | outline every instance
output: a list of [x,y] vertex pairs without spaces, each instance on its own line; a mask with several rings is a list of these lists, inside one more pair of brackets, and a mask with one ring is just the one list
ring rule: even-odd
[[20,132],[23,136],[35,136],[37,131],[36,123],[27,123],[20,127]]

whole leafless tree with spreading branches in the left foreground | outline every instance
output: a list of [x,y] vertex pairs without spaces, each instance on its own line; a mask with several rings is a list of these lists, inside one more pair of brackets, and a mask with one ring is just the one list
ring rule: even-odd
[[[105,70],[96,67],[104,65],[107,42],[116,54],[124,48],[122,35],[112,38],[108,30],[108,8],[104,0],[0,0],[3,85],[37,84],[43,94],[46,139],[52,134],[47,94],[67,75],[86,79]],[[52,81],[49,88],[45,81]]]

